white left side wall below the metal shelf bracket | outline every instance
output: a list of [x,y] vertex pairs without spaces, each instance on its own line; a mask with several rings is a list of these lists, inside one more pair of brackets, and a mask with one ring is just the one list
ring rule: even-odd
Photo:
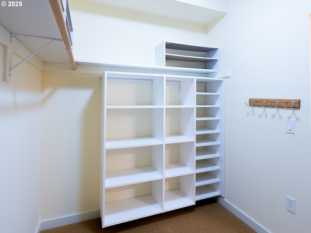
[[[19,60],[13,56],[13,64]],[[34,233],[40,211],[41,70],[25,62],[7,83],[2,69],[1,59],[0,232]]]

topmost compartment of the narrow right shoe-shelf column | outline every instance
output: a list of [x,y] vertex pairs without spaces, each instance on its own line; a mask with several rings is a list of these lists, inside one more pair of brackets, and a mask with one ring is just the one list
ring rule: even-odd
[[223,79],[217,78],[197,78],[196,79],[196,92],[197,94],[217,94],[222,93]]

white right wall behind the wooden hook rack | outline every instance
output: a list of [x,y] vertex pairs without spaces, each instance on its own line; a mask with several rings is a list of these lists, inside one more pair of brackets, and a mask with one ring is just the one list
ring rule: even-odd
[[[273,233],[311,232],[309,0],[228,1],[209,28],[225,81],[225,200]],[[249,98],[301,99],[300,110],[249,108]],[[295,119],[295,134],[285,119]],[[286,195],[296,214],[286,210]]]

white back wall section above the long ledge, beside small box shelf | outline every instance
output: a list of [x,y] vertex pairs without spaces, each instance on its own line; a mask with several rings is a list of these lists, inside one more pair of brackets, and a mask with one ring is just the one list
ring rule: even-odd
[[155,66],[155,46],[164,40],[206,45],[206,27],[113,7],[69,1],[76,60]]

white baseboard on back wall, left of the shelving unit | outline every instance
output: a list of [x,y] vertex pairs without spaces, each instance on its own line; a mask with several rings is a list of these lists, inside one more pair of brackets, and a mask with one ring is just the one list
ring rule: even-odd
[[65,225],[69,225],[72,223],[82,222],[94,218],[100,217],[100,211],[90,211],[80,214],[74,214],[74,215],[68,215],[68,216],[61,216],[57,218],[52,218],[48,220],[44,220],[40,222],[40,226],[38,228],[38,231],[36,233],[40,233],[43,230],[55,228],[55,227],[61,227]]

